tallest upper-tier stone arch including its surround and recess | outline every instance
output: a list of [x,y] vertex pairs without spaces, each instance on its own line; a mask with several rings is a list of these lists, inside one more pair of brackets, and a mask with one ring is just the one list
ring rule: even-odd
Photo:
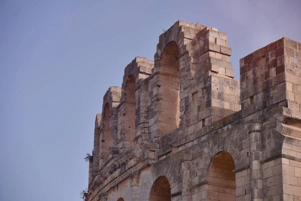
[[[149,136],[155,141],[156,138],[162,137],[174,131],[176,128],[180,130],[185,128],[185,105],[188,103],[191,90],[188,86],[192,82],[192,79],[195,78],[192,76],[195,76],[194,72],[196,71],[195,65],[193,64],[194,49],[191,44],[196,34],[204,28],[205,26],[202,25],[178,21],[159,37],[159,44],[157,45],[157,52],[154,57],[155,66],[152,69],[152,76],[149,80],[149,83],[152,83],[152,85],[149,89],[148,98],[148,111],[152,111],[148,113]],[[172,58],[170,61],[177,61],[179,69],[176,70],[176,74],[173,74],[175,71],[172,72],[172,70],[165,72],[165,69],[168,68],[163,68],[163,65],[171,64],[168,62],[169,59],[167,59],[169,57]],[[175,85],[174,83],[172,84],[171,81],[166,80],[169,79],[167,77],[172,77],[171,79],[174,82],[178,82],[178,87],[175,87],[175,89],[177,89],[176,92],[174,90],[171,91],[170,88],[164,90],[164,82],[168,82],[167,85],[172,88]],[[172,94],[177,97],[172,99],[176,99],[174,102],[177,103],[177,108],[179,109],[174,109],[173,107],[169,109],[170,106],[164,107],[164,98],[168,98],[166,97],[168,93],[170,97],[172,97]],[[172,101],[173,100],[170,102]],[[162,104],[163,107],[160,107],[160,104]],[[162,110],[162,108],[165,108],[165,110]],[[167,111],[168,113],[166,113]],[[171,123],[169,121],[162,121],[162,116],[173,119],[173,121]],[[180,121],[180,119],[182,121]]]

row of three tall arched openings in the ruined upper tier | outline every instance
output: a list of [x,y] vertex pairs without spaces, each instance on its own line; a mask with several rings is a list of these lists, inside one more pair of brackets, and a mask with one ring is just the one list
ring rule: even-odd
[[[155,61],[156,62],[156,61]],[[157,91],[159,101],[157,104],[157,124],[158,137],[170,133],[179,127],[180,123],[180,62],[179,47],[176,42],[172,41],[163,49],[158,62],[158,84]],[[156,65],[155,65],[156,66]],[[136,78],[133,74],[128,75],[125,80],[124,88],[121,95],[123,105],[122,112],[119,111],[118,118],[122,118],[121,125],[118,127],[118,141],[122,141],[122,147],[131,148],[134,145],[135,130],[139,125],[136,121],[136,109],[139,97],[136,97]],[[140,94],[137,94],[140,95]],[[155,103],[152,103],[155,104]],[[110,130],[111,130],[111,109],[109,103],[106,103],[103,109],[103,136],[101,137],[102,155],[108,156],[110,147]],[[151,126],[151,125],[149,125]]]

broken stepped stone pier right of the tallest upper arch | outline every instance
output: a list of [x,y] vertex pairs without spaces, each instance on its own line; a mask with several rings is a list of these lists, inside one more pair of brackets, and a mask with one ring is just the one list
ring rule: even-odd
[[229,61],[227,35],[205,28],[192,41],[195,77],[185,100],[185,118],[191,134],[240,110],[239,82]]

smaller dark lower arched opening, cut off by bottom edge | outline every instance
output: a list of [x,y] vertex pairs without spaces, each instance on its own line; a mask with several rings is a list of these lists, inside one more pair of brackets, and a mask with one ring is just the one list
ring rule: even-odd
[[150,189],[149,201],[171,201],[171,186],[165,176],[160,176]]

